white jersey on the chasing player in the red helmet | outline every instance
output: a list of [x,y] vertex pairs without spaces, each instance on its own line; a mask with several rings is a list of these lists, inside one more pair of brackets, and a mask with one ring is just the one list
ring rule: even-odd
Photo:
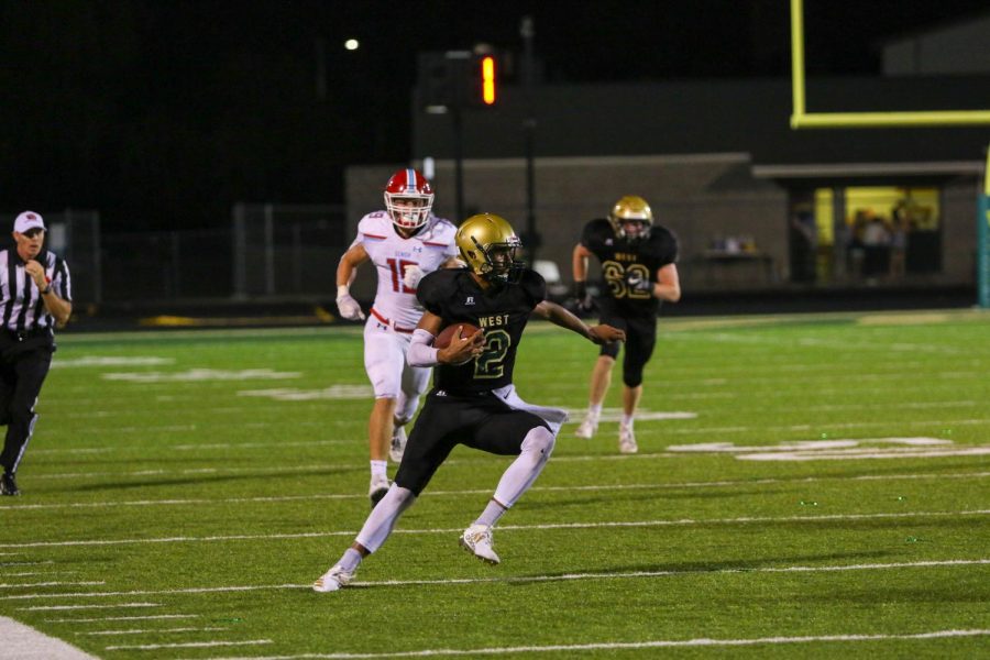
[[416,300],[416,289],[403,283],[406,266],[417,265],[424,273],[432,273],[458,256],[457,231],[449,220],[430,216],[422,229],[404,239],[386,211],[374,211],[361,219],[351,248],[363,245],[377,268],[378,288],[372,307],[375,318],[409,330],[419,323],[422,307]]

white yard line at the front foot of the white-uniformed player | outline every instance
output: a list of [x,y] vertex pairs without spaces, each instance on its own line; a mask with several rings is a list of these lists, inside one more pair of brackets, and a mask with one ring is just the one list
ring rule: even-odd
[[[672,454],[641,454],[642,457],[669,457]],[[606,457],[593,457],[601,460]],[[627,457],[616,457],[625,459]],[[552,459],[559,461],[560,459]],[[613,485],[585,485],[585,486],[532,486],[529,493],[557,493],[557,492],[608,492],[608,491],[648,491],[668,488],[716,488],[732,486],[754,486],[768,484],[810,484],[818,482],[846,482],[846,481],[904,481],[904,480],[947,480],[947,479],[985,479],[990,472],[957,472],[950,474],[868,474],[859,476],[807,476],[796,479],[758,479],[716,482],[683,482],[669,484],[613,484]],[[473,488],[463,491],[427,491],[426,497],[461,497],[464,495],[490,494],[491,488]],[[65,509],[65,508],[112,508],[120,506],[201,506],[204,504],[243,504],[243,503],[280,503],[280,502],[311,502],[326,499],[365,499],[364,493],[334,493],[326,495],[279,495],[270,497],[223,497],[219,499],[189,498],[189,499],[131,499],[125,502],[67,502],[64,504],[24,504],[11,507],[0,507],[0,514],[37,509]],[[12,553],[23,554],[23,553]],[[3,564],[0,564],[3,565]]]

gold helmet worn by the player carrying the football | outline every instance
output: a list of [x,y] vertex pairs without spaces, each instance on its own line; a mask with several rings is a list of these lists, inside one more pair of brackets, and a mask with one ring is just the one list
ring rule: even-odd
[[461,258],[475,274],[496,282],[518,282],[525,263],[516,261],[522,241],[508,220],[494,213],[471,216],[454,237]]

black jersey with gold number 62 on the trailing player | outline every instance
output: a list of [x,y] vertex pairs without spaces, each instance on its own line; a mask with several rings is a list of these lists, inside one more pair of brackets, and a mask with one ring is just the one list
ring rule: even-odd
[[678,261],[678,239],[669,229],[653,224],[648,239],[629,243],[616,238],[612,223],[600,218],[584,226],[581,244],[602,264],[605,286],[600,305],[619,316],[657,314],[660,309],[660,300],[653,297],[657,271]]

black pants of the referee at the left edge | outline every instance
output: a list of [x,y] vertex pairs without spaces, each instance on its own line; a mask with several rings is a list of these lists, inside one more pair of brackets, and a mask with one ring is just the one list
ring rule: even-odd
[[52,349],[42,346],[0,360],[0,425],[7,426],[0,465],[16,472],[34,431],[34,405],[52,365]]

